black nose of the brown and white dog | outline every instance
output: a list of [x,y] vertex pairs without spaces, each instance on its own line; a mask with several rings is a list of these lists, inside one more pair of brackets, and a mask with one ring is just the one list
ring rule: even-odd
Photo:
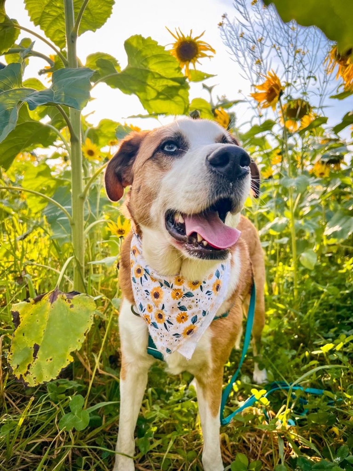
[[239,146],[223,144],[207,156],[213,171],[232,179],[238,179],[249,172],[250,157]]

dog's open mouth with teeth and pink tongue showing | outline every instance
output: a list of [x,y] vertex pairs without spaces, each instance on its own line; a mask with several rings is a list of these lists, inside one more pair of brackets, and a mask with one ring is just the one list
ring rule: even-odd
[[224,260],[240,236],[239,230],[225,225],[225,217],[231,209],[231,200],[223,198],[197,214],[168,210],[166,228],[178,245],[194,257]]

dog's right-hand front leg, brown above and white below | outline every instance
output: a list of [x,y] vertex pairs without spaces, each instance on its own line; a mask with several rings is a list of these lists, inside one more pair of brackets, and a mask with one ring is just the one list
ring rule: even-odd
[[204,471],[223,471],[219,437],[223,371],[196,377],[197,402],[203,435]]

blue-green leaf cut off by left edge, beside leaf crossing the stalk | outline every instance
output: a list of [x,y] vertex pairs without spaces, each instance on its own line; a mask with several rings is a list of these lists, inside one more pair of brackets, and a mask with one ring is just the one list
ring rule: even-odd
[[0,70],[0,142],[16,126],[19,103],[33,91],[22,86],[21,64]]

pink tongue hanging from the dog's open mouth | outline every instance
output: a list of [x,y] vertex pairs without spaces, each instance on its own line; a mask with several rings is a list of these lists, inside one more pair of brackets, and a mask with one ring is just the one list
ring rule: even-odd
[[184,215],[186,235],[197,232],[209,245],[216,249],[228,249],[239,239],[241,232],[226,226],[216,211],[207,214]]

